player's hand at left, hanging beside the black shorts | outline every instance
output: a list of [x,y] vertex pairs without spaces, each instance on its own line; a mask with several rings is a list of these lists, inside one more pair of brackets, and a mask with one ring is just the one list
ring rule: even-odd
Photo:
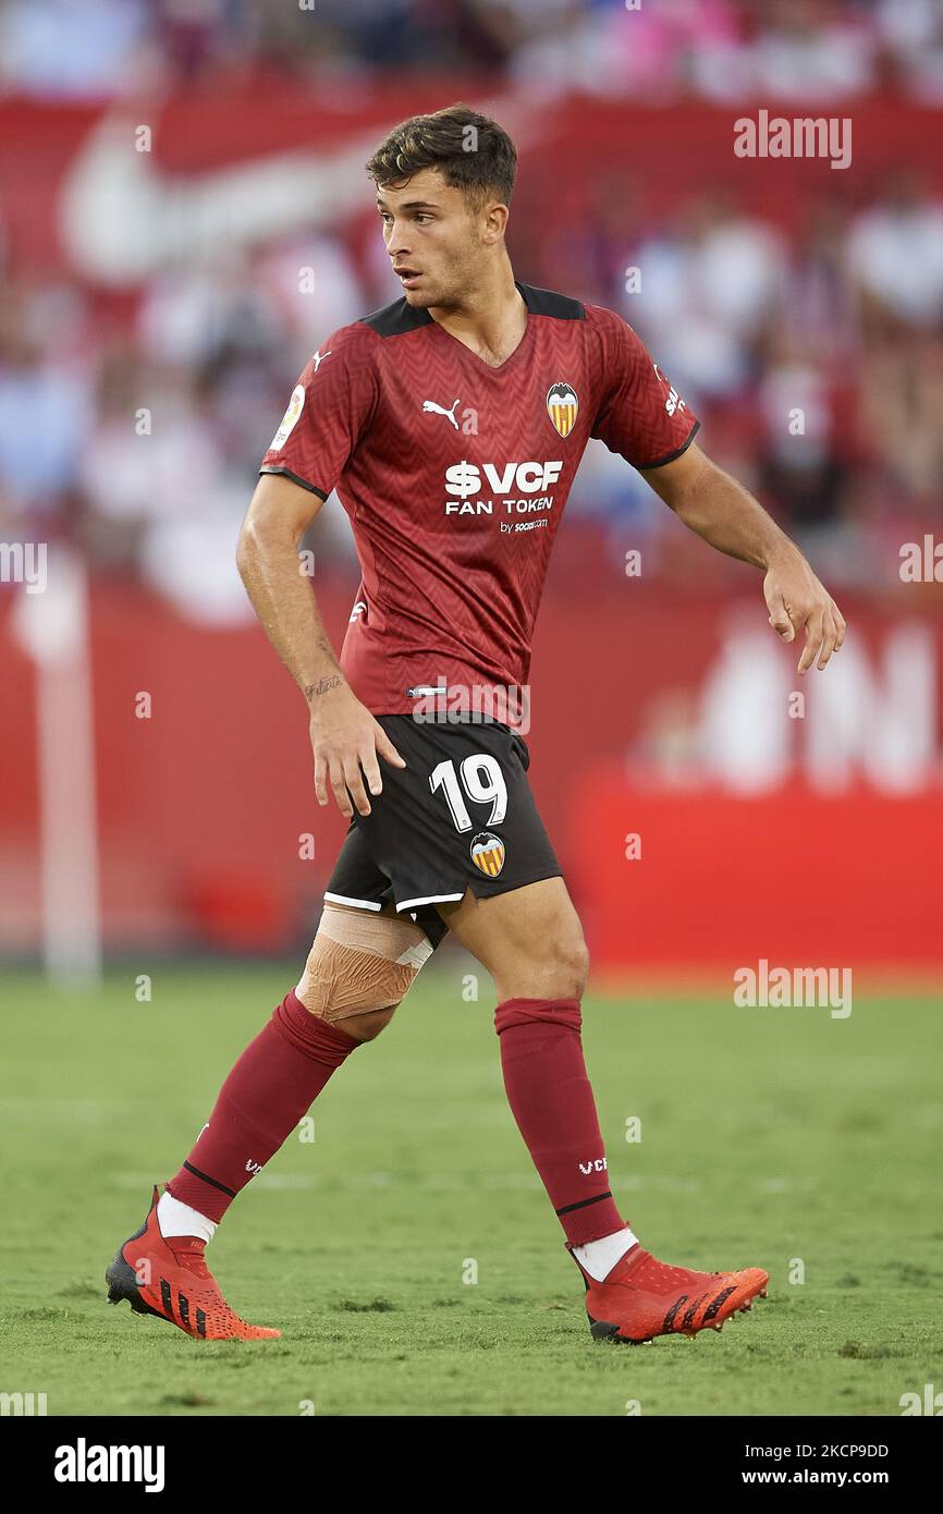
[[383,757],[394,768],[406,768],[406,762],[378,721],[345,683],[313,692],[310,712],[318,804],[327,804],[330,784],[341,815],[350,819],[354,813],[351,798],[359,815],[369,815],[371,804],[363,778],[366,777],[371,793],[381,793],[383,780],[377,759]]

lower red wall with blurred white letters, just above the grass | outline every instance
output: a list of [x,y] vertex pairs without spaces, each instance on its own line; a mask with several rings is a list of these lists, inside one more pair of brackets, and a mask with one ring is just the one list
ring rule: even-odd
[[[940,618],[849,604],[855,637],[829,698],[772,643],[755,592],[566,578],[542,609],[527,740],[596,967],[731,952],[938,966]],[[350,592],[321,603],[339,642]],[[35,669],[9,615],[2,634],[3,919],[6,945],[30,949]],[[344,822],[313,802],[304,710],[263,637],[103,586],[91,650],[107,943],[251,951],[310,934]],[[792,690],[807,696],[799,718]]]

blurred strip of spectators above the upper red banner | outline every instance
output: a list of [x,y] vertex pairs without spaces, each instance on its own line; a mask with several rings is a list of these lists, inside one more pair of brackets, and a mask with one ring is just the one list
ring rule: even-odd
[[[310,12],[318,26],[312,27]],[[633,11],[633,15],[627,12]],[[68,36],[68,47],[62,39]],[[938,0],[3,0],[0,77],[68,97],[271,68],[486,74],[664,103],[943,95]]]

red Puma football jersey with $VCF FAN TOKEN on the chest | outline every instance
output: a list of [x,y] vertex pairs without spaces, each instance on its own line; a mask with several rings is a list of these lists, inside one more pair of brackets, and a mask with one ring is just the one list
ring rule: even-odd
[[431,689],[522,687],[589,438],[657,468],[698,430],[619,315],[518,289],[527,327],[500,368],[406,300],[341,327],[262,460],[321,498],[336,488],[350,516],[362,578],[341,666],[374,715],[415,713]]

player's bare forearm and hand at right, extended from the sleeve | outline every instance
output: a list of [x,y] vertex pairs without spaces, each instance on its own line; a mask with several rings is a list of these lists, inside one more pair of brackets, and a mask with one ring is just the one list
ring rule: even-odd
[[816,659],[825,668],[845,640],[845,618],[760,501],[693,442],[674,462],[639,472],[692,531],[719,553],[763,569],[772,628],[784,642],[805,631],[799,672],[807,672]]

